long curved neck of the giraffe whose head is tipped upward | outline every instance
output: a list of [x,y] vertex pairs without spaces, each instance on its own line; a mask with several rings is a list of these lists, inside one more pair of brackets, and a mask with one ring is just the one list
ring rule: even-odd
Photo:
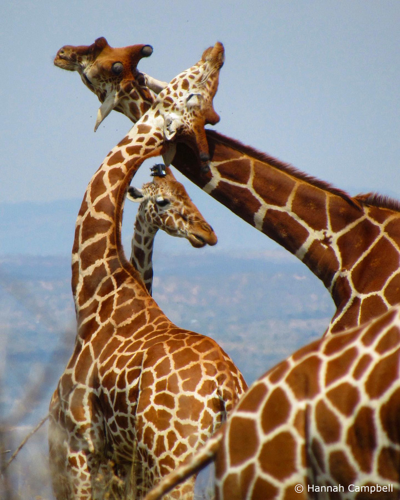
[[[150,120],[149,120],[150,122]],[[122,208],[127,186],[148,157],[160,154],[162,128],[154,120],[139,122],[106,156],[91,178],[76,220],[72,248],[72,293],[78,320],[78,336],[101,316],[99,303],[116,307],[121,285],[132,296],[148,297],[138,272],[126,260],[121,243]],[[107,300],[104,297],[108,297]]]

